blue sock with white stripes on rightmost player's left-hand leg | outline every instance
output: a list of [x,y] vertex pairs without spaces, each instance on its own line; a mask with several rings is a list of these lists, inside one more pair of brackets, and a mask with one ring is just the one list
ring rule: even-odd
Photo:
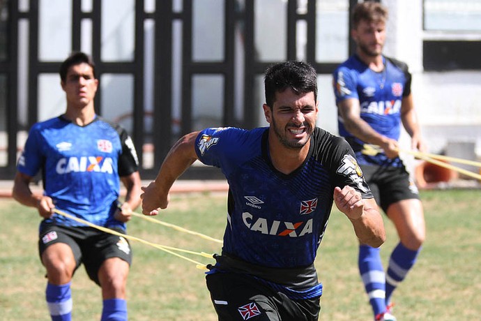
[[379,248],[359,246],[359,272],[374,316],[385,311],[385,274]]

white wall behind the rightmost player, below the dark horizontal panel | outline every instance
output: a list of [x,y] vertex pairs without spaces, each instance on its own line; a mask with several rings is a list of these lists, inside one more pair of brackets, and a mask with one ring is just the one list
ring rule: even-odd
[[481,93],[481,71],[422,70],[422,40],[433,36],[422,29],[422,0],[382,2],[390,10],[385,54],[409,64],[413,98],[429,150],[437,154],[448,142],[475,142],[475,152],[481,157],[477,95]]

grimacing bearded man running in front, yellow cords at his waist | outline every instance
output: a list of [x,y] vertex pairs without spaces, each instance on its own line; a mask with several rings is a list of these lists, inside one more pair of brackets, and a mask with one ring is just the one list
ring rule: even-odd
[[314,259],[333,202],[363,243],[381,246],[384,226],[349,144],[316,127],[316,70],[275,64],[265,89],[270,126],[185,135],[142,188],[142,209],[165,209],[172,184],[195,160],[220,167],[229,183],[227,227],[206,276],[219,320],[318,320]]

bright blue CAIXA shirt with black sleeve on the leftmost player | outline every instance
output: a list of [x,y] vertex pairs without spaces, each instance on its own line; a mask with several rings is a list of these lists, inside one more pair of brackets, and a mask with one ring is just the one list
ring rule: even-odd
[[[137,171],[132,140],[120,126],[100,117],[86,126],[56,117],[32,126],[17,170],[34,177],[40,170],[44,194],[57,209],[93,224],[121,227],[114,211],[120,193],[119,176]],[[81,223],[54,214],[59,225]]]

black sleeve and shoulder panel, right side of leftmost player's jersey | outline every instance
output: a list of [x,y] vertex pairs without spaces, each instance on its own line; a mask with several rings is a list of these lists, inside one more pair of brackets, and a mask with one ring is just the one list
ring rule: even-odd
[[137,172],[137,170],[139,170],[139,158],[135,150],[134,142],[132,138],[130,138],[130,135],[128,135],[127,130],[119,124],[103,119],[100,116],[97,117],[96,120],[108,124],[119,134],[122,145],[122,154],[119,156],[119,176],[123,177]]

